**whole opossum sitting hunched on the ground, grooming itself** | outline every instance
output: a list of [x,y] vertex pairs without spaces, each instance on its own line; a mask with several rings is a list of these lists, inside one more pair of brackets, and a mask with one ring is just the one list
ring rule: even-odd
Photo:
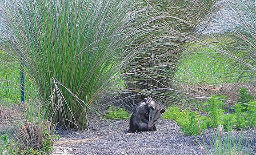
[[164,108],[152,98],[146,98],[133,111],[130,132],[156,131],[155,123],[164,113]]

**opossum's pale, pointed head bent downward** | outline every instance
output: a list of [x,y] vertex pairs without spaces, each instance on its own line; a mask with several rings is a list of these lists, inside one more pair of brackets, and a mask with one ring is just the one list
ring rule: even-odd
[[162,117],[164,111],[164,108],[158,103],[151,105],[149,110],[148,127],[152,127]]

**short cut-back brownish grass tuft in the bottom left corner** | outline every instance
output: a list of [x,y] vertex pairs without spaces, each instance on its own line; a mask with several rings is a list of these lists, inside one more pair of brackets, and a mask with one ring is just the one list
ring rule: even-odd
[[49,121],[26,122],[15,131],[13,147],[9,149],[14,155],[49,155],[54,150],[53,143],[59,138]]

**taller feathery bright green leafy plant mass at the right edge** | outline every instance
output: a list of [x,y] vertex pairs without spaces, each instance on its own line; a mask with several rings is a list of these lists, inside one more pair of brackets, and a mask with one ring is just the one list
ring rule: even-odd
[[[240,89],[239,92],[239,102],[241,103],[235,103],[234,107],[230,107],[234,109],[234,112],[230,112],[224,108],[224,99],[226,98],[224,95],[212,95],[212,98],[204,103],[204,111],[208,112],[212,118],[208,122],[208,127],[216,128],[223,125],[226,131],[231,131],[233,129],[243,129],[249,124],[255,125],[253,119],[255,118],[255,102],[247,102],[253,96],[246,89]],[[243,103],[246,103],[246,106]]]

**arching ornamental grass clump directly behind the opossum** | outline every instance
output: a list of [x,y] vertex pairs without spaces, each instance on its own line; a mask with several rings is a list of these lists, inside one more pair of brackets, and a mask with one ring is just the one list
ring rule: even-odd
[[197,26],[207,16],[213,0],[144,1],[133,25],[125,86],[143,100],[154,96],[168,99],[178,62],[195,40]]

